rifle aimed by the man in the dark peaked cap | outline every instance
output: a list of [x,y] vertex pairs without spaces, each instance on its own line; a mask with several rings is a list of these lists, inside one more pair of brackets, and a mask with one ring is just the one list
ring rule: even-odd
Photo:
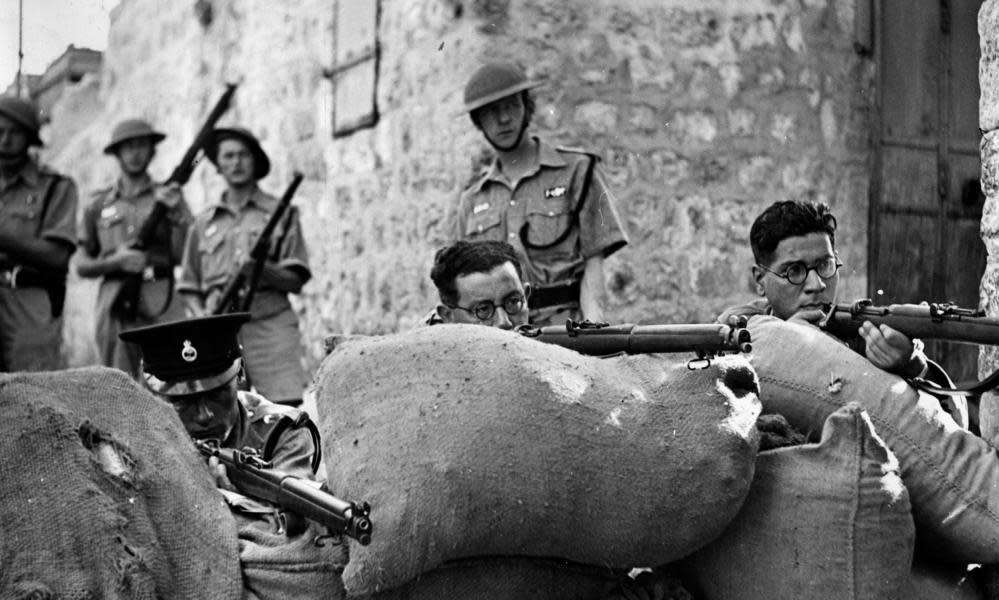
[[272,468],[250,450],[220,448],[217,443],[195,440],[203,456],[217,457],[240,492],[265,500],[283,510],[325,525],[334,535],[346,535],[362,546],[371,543],[371,507],[367,502],[347,502],[301,477]]

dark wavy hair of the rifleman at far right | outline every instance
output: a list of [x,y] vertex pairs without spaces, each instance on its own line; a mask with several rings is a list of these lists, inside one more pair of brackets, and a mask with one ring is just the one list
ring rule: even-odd
[[749,230],[749,244],[753,258],[762,265],[770,264],[777,245],[790,237],[810,233],[825,233],[833,248],[836,247],[836,217],[822,202],[786,200],[774,202],[753,221]]

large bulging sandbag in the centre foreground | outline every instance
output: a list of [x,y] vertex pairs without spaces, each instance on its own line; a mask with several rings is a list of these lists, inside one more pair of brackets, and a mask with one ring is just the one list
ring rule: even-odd
[[316,375],[327,474],[375,524],[347,592],[467,557],[625,568],[707,543],[752,480],[759,403],[744,358],[690,358],[468,325],[338,345]]

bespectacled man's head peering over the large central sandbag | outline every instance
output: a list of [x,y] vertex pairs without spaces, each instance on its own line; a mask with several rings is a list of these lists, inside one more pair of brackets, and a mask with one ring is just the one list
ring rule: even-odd
[[530,286],[506,242],[455,242],[437,251],[430,279],[440,304],[427,323],[470,323],[500,329],[527,324]]

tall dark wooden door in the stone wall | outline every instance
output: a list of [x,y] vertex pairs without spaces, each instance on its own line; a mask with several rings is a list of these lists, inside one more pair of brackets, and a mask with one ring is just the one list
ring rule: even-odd
[[[880,127],[870,212],[869,293],[877,304],[975,308],[985,271],[979,234],[978,9],[981,0],[882,0]],[[978,348],[928,342],[958,382]]]

